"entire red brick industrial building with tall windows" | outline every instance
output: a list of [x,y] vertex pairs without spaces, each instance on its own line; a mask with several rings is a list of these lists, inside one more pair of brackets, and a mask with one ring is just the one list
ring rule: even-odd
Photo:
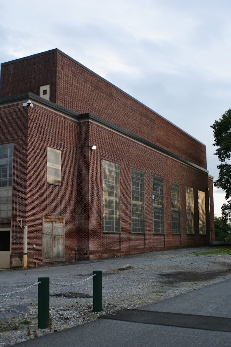
[[58,49],[0,98],[0,267],[211,244],[203,143]]

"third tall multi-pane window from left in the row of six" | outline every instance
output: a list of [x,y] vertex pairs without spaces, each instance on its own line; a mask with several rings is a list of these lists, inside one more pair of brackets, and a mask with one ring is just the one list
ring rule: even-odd
[[153,177],[153,223],[154,233],[163,234],[163,179]]

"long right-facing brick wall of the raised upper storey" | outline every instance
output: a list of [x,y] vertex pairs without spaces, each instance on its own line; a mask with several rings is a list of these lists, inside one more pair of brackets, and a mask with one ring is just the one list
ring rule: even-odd
[[206,168],[205,146],[60,53],[56,102],[79,113],[93,113]]

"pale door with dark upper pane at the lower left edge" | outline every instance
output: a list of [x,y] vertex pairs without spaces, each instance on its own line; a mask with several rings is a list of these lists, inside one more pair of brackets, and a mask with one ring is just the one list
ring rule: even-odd
[[10,268],[10,228],[0,228],[0,268]]

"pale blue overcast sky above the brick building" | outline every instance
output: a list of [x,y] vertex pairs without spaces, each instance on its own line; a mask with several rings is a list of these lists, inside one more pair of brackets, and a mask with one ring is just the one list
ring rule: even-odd
[[[0,0],[0,62],[59,48],[206,145],[231,108],[230,0]],[[184,144],[182,144],[184,145]],[[224,192],[214,189],[221,215]]]

